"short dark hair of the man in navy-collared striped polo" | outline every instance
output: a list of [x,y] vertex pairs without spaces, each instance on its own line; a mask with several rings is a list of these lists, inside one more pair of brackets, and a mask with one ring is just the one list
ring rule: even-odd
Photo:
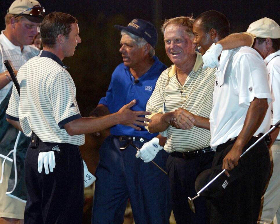
[[66,13],[52,12],[46,15],[40,26],[43,46],[53,47],[59,34],[68,39],[73,23],[78,23],[78,20]]

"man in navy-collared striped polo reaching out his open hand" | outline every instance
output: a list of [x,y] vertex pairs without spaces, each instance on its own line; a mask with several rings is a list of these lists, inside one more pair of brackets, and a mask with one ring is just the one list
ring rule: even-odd
[[[53,12],[41,24],[43,51],[21,67],[13,86],[7,120],[31,136],[25,159],[28,198],[26,223],[81,223],[83,214],[83,163],[79,145],[84,134],[112,125],[141,125],[146,112],[133,112],[131,101],[118,112],[100,118],[83,118],[76,88],[65,57],[81,43],[77,19]],[[44,161],[45,173],[42,172]],[[50,173],[49,173],[50,169]]]

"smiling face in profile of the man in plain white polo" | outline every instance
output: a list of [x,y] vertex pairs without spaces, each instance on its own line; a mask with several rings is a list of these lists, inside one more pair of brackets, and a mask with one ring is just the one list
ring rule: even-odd
[[214,41],[211,39],[211,31],[205,33],[201,27],[201,20],[194,21],[192,26],[192,32],[194,34],[193,43],[200,47],[199,52],[203,55],[210,48]]

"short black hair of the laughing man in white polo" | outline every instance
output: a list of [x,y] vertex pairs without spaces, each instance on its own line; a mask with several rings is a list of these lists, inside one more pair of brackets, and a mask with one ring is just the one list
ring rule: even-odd
[[211,29],[215,29],[220,38],[225,38],[230,34],[230,22],[221,12],[210,10],[201,13],[195,20],[201,20],[201,28],[204,33],[208,33]]

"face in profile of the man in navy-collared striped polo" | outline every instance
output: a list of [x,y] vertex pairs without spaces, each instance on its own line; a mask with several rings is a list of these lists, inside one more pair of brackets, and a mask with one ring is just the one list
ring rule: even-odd
[[81,38],[79,37],[79,26],[77,23],[72,23],[71,32],[69,33],[69,37],[64,37],[63,43],[63,55],[64,57],[71,57],[74,55],[74,51],[76,50],[76,46],[78,43],[81,43]]

